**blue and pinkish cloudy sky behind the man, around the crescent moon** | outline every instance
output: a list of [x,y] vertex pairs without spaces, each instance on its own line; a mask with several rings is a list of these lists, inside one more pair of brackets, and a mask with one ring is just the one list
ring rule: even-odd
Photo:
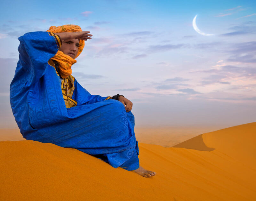
[[72,75],[91,94],[131,100],[136,126],[256,121],[253,0],[14,0],[0,11],[0,128],[16,127],[9,89],[18,37],[65,24],[93,35]]

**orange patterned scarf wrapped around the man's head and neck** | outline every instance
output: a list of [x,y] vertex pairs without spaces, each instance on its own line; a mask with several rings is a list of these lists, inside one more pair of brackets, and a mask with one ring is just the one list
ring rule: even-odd
[[[48,32],[52,33],[60,33],[60,32],[78,32],[82,31],[80,26],[77,25],[63,25],[63,26],[51,26]],[[84,49],[84,40],[79,40],[79,48],[77,52],[77,56],[81,54]],[[60,50],[57,52],[55,56],[52,57],[53,60],[59,63],[59,71],[60,76],[62,78],[67,78],[72,74],[71,66],[76,63],[76,60],[71,56],[64,54]]]

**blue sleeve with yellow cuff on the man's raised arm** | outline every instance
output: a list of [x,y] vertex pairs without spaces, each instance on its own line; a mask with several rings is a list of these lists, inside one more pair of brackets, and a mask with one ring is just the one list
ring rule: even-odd
[[51,59],[59,50],[61,39],[51,32],[30,32],[19,38],[20,65],[18,71],[25,73],[27,77],[26,86],[30,86],[39,80]]

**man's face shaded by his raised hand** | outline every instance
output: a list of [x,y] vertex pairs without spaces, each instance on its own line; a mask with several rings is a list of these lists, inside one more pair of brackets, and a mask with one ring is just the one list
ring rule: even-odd
[[78,48],[79,48],[79,40],[72,39],[70,41],[62,43],[59,50],[74,59],[76,58]]

